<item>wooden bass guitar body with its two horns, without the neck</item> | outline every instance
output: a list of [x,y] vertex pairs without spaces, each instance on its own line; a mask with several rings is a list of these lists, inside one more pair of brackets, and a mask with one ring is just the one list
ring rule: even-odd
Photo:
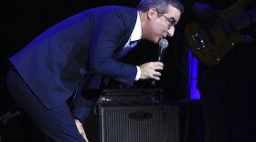
[[239,14],[242,6],[240,0],[228,9],[219,11],[221,19],[217,23],[204,22],[203,25],[195,21],[186,25],[187,44],[199,62],[207,66],[217,65],[234,46],[252,41],[251,38],[240,35],[238,31],[230,30],[229,25],[224,22],[231,14]]

